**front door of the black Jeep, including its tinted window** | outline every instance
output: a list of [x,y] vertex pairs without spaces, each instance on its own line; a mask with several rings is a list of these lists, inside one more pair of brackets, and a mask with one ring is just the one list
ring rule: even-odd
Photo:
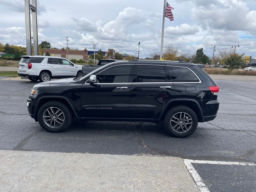
[[81,91],[82,116],[128,118],[134,64],[111,66],[96,74],[97,83],[86,81]]

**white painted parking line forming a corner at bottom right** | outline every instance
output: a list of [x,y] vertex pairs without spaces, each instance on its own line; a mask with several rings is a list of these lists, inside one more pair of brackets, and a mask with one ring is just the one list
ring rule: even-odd
[[204,184],[202,178],[192,165],[192,163],[198,163],[198,164],[215,164],[215,165],[247,165],[247,166],[256,166],[255,163],[249,163],[249,162],[227,162],[227,161],[204,161],[204,160],[190,160],[190,159],[184,159],[184,164],[186,165],[188,172],[190,172],[192,178],[196,182],[196,185],[198,186],[200,192],[210,192],[210,190],[206,187]]

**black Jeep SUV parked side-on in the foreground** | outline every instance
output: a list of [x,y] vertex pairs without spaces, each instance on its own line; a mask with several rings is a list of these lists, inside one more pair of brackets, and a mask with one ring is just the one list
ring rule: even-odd
[[36,84],[28,112],[49,132],[72,118],[104,121],[163,120],[166,131],[187,137],[198,122],[214,120],[219,87],[196,64],[181,61],[113,62],[83,77]]

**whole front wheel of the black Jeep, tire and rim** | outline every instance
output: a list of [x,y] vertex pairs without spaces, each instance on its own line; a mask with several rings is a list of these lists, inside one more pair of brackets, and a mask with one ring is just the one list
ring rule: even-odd
[[38,110],[38,122],[46,131],[63,132],[70,126],[72,114],[63,103],[51,101]]

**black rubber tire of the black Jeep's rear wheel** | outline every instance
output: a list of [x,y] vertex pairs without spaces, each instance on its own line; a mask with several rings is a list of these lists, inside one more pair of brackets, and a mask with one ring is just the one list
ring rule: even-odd
[[[175,117],[180,116],[180,113],[183,113],[184,115],[182,115],[181,120],[176,120]],[[185,113],[187,115],[185,115]],[[188,120],[184,120],[183,119],[184,116],[185,116],[185,119],[188,119]],[[192,119],[192,124],[191,124],[191,121],[189,120],[190,119],[189,116]],[[178,123],[173,122],[171,120],[176,120]],[[166,116],[164,117],[164,128],[166,129],[168,134],[170,134],[170,136],[173,136],[173,137],[185,138],[190,136],[196,130],[197,124],[198,124],[198,118],[196,116],[196,113],[187,106],[175,106],[171,108],[167,112]],[[174,130],[176,129],[175,125],[177,125],[177,127],[180,127],[178,128],[177,131]],[[185,130],[185,126],[186,126],[186,129],[188,130]],[[185,132],[183,132],[183,129],[185,130]]]

